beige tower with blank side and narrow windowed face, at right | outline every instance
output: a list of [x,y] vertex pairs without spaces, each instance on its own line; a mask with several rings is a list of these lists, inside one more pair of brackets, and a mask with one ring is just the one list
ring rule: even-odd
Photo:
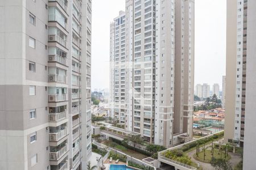
[[[225,142],[243,146],[245,130],[247,0],[227,1]],[[234,50],[237,49],[237,50]]]

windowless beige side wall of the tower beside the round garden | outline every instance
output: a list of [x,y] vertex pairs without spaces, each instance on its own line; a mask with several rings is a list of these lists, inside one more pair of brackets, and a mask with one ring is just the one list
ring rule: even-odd
[[237,1],[227,0],[226,23],[226,103],[224,142],[234,138],[237,67]]

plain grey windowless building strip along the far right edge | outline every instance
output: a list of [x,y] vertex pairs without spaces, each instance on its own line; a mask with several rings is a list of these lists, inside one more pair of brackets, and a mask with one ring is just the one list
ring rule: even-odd
[[[247,2],[247,43],[246,43],[246,99],[245,99],[245,138],[243,145],[243,169],[256,169],[255,162],[255,40],[256,2]],[[242,130],[242,129],[241,129]]]

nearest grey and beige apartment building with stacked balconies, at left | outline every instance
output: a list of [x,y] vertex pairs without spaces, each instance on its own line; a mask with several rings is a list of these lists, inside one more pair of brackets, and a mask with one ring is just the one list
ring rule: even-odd
[[0,2],[0,169],[87,169],[91,9]]

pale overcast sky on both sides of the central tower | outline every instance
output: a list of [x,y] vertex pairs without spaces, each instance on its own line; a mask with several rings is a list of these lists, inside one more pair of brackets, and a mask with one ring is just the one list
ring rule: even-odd
[[[109,24],[125,0],[93,0],[92,90],[109,88]],[[195,0],[195,84],[220,84],[225,75],[226,1]]]

